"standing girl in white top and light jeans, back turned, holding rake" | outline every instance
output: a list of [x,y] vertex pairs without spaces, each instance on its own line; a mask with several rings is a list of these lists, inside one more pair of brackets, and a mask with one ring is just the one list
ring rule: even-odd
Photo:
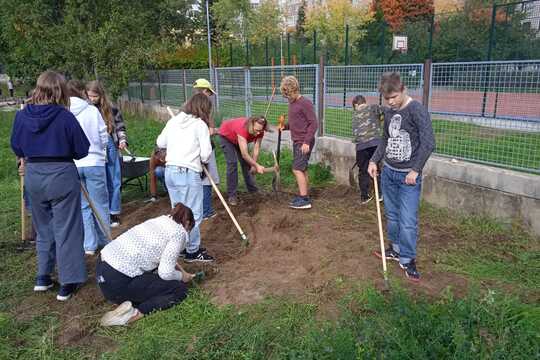
[[199,230],[203,212],[202,164],[206,164],[212,154],[207,125],[211,112],[212,102],[207,96],[193,95],[182,111],[167,122],[156,141],[158,147],[167,149],[165,183],[171,207],[181,202],[193,211],[195,218],[186,246],[187,262],[214,260],[200,247]]

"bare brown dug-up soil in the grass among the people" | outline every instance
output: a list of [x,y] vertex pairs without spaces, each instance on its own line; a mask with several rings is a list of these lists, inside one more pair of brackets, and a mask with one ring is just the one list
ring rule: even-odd
[[[248,235],[248,247],[242,245],[225,209],[214,199],[218,215],[203,222],[201,235],[202,246],[216,261],[187,264],[186,269],[205,271],[201,286],[216,304],[256,303],[267,296],[286,296],[325,307],[339,298],[336,282],[365,281],[383,288],[381,261],[373,256],[379,248],[374,201],[360,206],[357,193],[345,187],[315,190],[311,210],[289,209],[290,198],[285,193],[240,197],[233,212]],[[168,198],[156,203],[139,200],[125,204],[123,223],[113,235],[169,209]],[[424,221],[420,228],[418,267],[422,281],[403,284],[412,292],[427,295],[437,295],[448,286],[461,292],[467,286],[464,278],[437,271],[433,266],[437,261],[433,254],[454,240],[452,233]],[[96,344],[101,344],[101,348],[113,348],[112,340],[96,334],[99,318],[113,306],[96,287],[95,258],[89,258],[87,265],[89,281],[73,299],[61,304],[53,293],[32,294],[15,307],[15,315],[20,320],[45,312],[58,316],[61,327],[56,340],[61,346],[92,344],[100,348]],[[389,263],[388,268],[391,277],[404,278],[396,263]]]

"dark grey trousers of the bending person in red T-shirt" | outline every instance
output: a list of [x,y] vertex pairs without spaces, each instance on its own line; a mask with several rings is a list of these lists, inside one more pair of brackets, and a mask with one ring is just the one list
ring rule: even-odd
[[246,182],[246,188],[249,192],[255,192],[258,190],[257,184],[253,175],[249,172],[251,166],[242,157],[240,153],[240,147],[233,144],[226,137],[220,136],[220,144],[225,154],[225,161],[227,163],[227,194],[229,197],[236,196],[236,190],[238,188],[238,162],[242,167],[242,175],[244,175],[244,181]]

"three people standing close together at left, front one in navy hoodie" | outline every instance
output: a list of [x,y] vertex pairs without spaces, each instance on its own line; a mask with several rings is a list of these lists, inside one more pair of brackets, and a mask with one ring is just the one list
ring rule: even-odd
[[118,149],[127,146],[122,116],[99,82],[66,82],[46,71],[16,114],[11,146],[36,232],[34,290],[53,287],[56,263],[57,299],[67,300],[86,280],[85,254],[105,246],[110,227],[118,225]]

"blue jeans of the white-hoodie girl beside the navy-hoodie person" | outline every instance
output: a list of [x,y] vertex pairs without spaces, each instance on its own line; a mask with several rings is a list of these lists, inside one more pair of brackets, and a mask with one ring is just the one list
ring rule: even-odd
[[[81,209],[84,224],[84,250],[96,251],[99,246],[105,246],[109,242],[109,193],[107,191],[107,180],[105,175],[105,166],[86,166],[77,169],[81,184],[85,187],[92,204],[97,210],[103,225],[103,230],[98,219],[92,212],[90,204],[81,194]],[[108,234],[105,234],[107,231]]]

